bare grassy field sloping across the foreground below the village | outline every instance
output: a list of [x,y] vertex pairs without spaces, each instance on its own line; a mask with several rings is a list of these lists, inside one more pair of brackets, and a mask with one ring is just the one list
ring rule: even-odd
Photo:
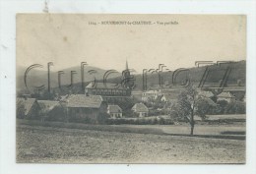
[[245,141],[18,125],[17,162],[245,163]]

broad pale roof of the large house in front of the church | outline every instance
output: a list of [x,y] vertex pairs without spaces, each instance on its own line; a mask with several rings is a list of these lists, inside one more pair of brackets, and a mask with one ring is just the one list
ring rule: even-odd
[[67,107],[99,108],[102,102],[100,95],[70,94],[66,100]]

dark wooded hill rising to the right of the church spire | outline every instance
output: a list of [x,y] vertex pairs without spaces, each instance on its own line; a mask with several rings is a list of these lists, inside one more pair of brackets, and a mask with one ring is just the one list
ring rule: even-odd
[[[242,85],[245,85],[246,83],[246,61],[239,61],[239,62],[234,62],[231,64],[228,64],[231,67],[231,72],[229,74],[227,84],[236,84],[237,81],[239,80]],[[209,76],[206,79],[206,84],[220,84],[220,81],[224,78],[224,73],[225,70],[228,66],[227,64],[221,64],[221,65],[212,65],[209,66]],[[194,84],[199,84],[204,72],[206,70],[206,66],[202,67],[194,67],[194,68],[189,68],[189,76],[191,81]],[[172,75],[173,72],[163,72],[161,74],[162,77],[162,83],[169,85],[169,87],[172,87]],[[178,74],[176,78],[176,83],[181,84],[187,76],[187,72],[182,72]],[[140,75],[134,75],[135,78],[135,85],[136,89],[142,90],[143,88],[143,76]],[[119,82],[119,79],[111,79],[109,82]],[[147,84],[148,87],[154,87],[156,85],[159,85],[159,76],[154,73],[148,73],[148,78],[147,78]]]

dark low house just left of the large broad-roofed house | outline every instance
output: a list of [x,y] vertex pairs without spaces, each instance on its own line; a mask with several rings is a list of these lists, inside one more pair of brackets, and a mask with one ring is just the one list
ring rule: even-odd
[[65,112],[64,108],[60,105],[59,101],[52,100],[37,100],[40,108],[41,121],[64,121]]

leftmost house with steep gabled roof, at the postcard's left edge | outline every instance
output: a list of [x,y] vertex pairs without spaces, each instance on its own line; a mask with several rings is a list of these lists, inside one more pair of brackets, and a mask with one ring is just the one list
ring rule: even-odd
[[[16,100],[16,107],[17,107],[17,117],[19,118],[30,118],[36,119],[38,116],[39,105],[35,98],[23,98],[18,97]],[[19,113],[20,112],[20,113]],[[23,116],[18,115],[23,112]]]

